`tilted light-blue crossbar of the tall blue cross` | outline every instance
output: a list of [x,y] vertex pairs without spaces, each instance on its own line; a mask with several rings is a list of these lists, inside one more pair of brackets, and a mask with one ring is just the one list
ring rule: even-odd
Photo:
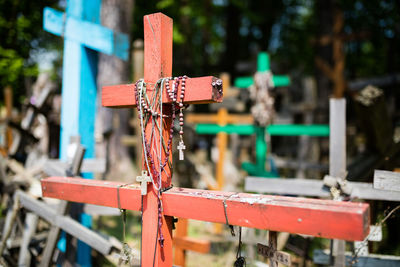
[[78,41],[85,46],[123,60],[129,58],[129,36],[101,25],[73,17],[55,9],[44,8],[43,28],[55,35]]

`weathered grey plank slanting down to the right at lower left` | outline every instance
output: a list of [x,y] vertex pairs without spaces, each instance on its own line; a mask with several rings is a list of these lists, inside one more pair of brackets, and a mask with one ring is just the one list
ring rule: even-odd
[[[72,178],[76,179],[76,178]],[[39,217],[55,225],[68,234],[76,237],[77,239],[85,242],[93,249],[97,250],[103,255],[111,253],[114,246],[101,235],[93,232],[92,230],[84,227],[77,221],[71,219],[69,216],[62,216],[56,212],[55,209],[50,208],[44,202],[36,200],[22,191],[17,191],[20,204],[25,209],[32,211]]]

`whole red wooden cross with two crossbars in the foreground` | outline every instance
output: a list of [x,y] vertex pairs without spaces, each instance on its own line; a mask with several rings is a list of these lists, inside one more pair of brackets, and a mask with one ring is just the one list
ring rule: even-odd
[[[145,81],[154,83],[161,77],[171,76],[172,19],[161,13],[145,16],[144,38]],[[221,93],[212,85],[215,79],[211,76],[187,79],[184,103],[222,101]],[[134,86],[104,87],[102,100],[103,106],[107,107],[135,106]],[[168,102],[169,98],[164,95],[163,103]],[[167,142],[170,118],[164,118],[163,125],[163,137]],[[149,132],[146,131],[146,134]],[[155,140],[159,141],[160,136]],[[157,161],[156,157],[153,158]],[[165,154],[162,155],[163,158]],[[167,173],[171,173],[169,169]],[[118,182],[50,177],[42,180],[42,192],[45,197],[141,210],[140,186],[122,185],[123,183]],[[162,187],[170,185],[171,176],[163,173]],[[165,241],[161,248],[156,241],[157,192],[151,184],[147,191],[147,195],[143,197],[142,266],[153,266],[154,255],[154,266],[172,266],[173,216],[345,240],[363,240],[369,232],[368,204],[172,188],[162,194],[161,232]]]

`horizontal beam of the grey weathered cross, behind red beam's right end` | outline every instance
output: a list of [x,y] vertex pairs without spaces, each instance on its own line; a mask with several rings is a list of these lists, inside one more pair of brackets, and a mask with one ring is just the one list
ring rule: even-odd
[[[374,189],[371,183],[347,182],[352,188],[350,198],[367,200],[400,201],[400,193]],[[312,179],[279,178],[265,179],[262,177],[246,177],[244,189],[247,192],[269,193],[278,195],[331,197],[324,182]]]

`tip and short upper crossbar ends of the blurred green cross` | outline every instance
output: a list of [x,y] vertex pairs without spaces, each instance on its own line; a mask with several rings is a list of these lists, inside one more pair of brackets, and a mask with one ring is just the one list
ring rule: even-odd
[[[270,59],[266,52],[260,52],[257,56],[257,71],[269,71]],[[275,87],[289,86],[290,78],[287,75],[273,75],[272,80]],[[234,86],[242,89],[247,89],[254,84],[253,77],[239,77],[234,81]]]

